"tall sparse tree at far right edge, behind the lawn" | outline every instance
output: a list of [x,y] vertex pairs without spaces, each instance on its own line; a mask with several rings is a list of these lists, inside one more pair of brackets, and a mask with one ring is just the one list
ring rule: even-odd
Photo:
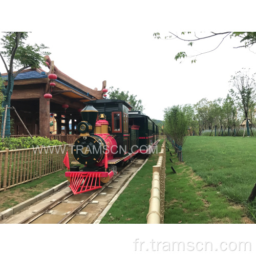
[[242,70],[236,72],[234,76],[231,76],[229,81],[233,89],[230,90],[231,94],[236,98],[237,104],[240,109],[243,110],[246,119],[247,126],[247,136],[249,134],[249,124],[248,124],[248,113],[250,109],[255,109],[255,73],[249,76],[249,71]]

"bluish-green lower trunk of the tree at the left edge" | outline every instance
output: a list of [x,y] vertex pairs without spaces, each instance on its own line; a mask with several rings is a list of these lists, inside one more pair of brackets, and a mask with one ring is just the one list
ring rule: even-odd
[[[14,85],[14,77],[12,74],[8,74],[8,87],[6,90],[3,90],[3,95],[5,99],[2,102],[2,107],[5,108],[8,105],[8,108],[11,106],[11,96],[13,91]],[[5,116],[5,110],[3,112],[3,116]],[[5,137],[10,137],[11,135],[11,118],[10,118],[10,109],[7,109],[7,116],[6,116],[6,125],[5,125]],[[1,137],[3,136],[3,129],[4,129],[4,118],[2,118],[2,130],[1,130]]]

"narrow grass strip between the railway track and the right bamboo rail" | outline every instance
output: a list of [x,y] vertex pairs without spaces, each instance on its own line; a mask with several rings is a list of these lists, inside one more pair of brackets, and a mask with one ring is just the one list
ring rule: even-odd
[[[163,140],[157,145],[158,152],[161,151],[162,143]],[[146,223],[152,187],[152,166],[156,165],[157,160],[158,154],[150,156],[100,223]]]

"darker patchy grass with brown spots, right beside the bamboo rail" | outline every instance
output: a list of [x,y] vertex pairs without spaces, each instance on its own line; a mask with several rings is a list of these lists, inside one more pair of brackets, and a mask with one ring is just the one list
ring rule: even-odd
[[191,167],[178,161],[174,150],[171,152],[173,156],[166,152],[164,223],[251,223],[243,206],[230,204],[216,187],[207,185]]

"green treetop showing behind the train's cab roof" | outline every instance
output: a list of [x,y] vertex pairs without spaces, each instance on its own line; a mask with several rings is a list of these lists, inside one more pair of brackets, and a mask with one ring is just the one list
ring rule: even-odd
[[114,89],[114,87],[109,88],[109,98],[110,99],[120,99],[120,100],[125,100],[126,102],[129,102],[133,106],[133,110],[137,111],[143,111],[144,107],[142,105],[141,99],[137,100],[136,99],[137,95],[129,95],[129,91],[121,91],[119,88]]

